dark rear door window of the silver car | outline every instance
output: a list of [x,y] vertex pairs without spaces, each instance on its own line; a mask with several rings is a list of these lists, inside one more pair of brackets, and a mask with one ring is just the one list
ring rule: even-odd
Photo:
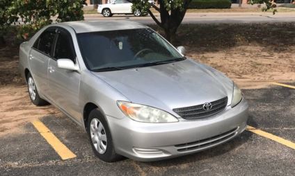
[[33,47],[35,49],[38,49],[42,53],[45,53],[46,55],[50,55],[51,47],[54,42],[55,32],[52,30],[45,30],[40,37],[36,40]]

